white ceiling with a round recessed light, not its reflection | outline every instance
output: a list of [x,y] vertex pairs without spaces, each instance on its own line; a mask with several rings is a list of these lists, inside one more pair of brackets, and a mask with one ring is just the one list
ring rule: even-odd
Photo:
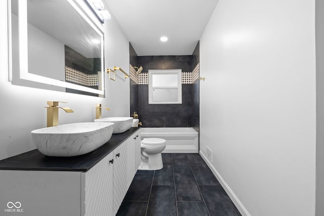
[[[137,55],[166,56],[192,54],[218,0],[105,2]],[[169,40],[161,42],[161,36],[167,36]]]

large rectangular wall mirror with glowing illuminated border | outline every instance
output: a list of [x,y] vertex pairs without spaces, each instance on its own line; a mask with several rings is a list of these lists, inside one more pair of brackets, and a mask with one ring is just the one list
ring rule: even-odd
[[103,96],[103,31],[77,4],[11,1],[13,84]]

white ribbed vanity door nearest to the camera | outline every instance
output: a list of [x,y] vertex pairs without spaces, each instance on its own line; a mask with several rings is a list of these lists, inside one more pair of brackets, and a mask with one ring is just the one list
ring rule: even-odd
[[[82,215],[114,215],[112,211],[113,199],[113,154],[108,154],[89,171],[82,173],[82,191],[85,212]],[[113,164],[112,164],[113,163]]]

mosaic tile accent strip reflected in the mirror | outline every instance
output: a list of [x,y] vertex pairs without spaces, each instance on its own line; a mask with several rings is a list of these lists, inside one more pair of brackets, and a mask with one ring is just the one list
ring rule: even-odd
[[86,74],[65,66],[65,79],[86,86],[98,86],[98,74]]

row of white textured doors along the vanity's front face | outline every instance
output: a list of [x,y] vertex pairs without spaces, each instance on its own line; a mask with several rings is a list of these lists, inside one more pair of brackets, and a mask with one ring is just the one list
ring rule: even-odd
[[[129,137],[125,142],[120,144],[116,149],[113,150],[108,156],[91,168],[88,172],[90,175],[94,173],[100,173],[101,176],[98,176],[98,185],[102,182],[106,182],[108,185],[100,187],[94,187],[94,193],[97,193],[97,196],[92,196],[93,200],[103,199],[107,200],[106,206],[102,207],[100,211],[93,211],[93,209],[99,208],[100,205],[105,203],[100,202],[96,206],[86,202],[86,214],[85,215],[110,215],[109,212],[112,212],[112,215],[115,215],[119,209],[121,202],[127,193],[128,188],[130,187],[132,180],[136,174],[136,171],[140,165],[140,156],[141,156],[141,133],[140,129],[137,130],[131,137]],[[113,160],[111,160],[113,159]],[[109,162],[110,161],[110,162]],[[112,162],[112,163],[111,163]],[[108,163],[108,166],[106,165]],[[102,164],[105,164],[107,167],[101,167]],[[98,166],[98,168],[97,168]],[[90,173],[90,171],[93,172]],[[98,170],[98,171],[97,171]],[[112,171],[112,172],[111,172]],[[86,175],[88,174],[86,172]],[[112,184],[111,184],[112,182]],[[90,188],[89,188],[90,189]],[[90,189],[92,190],[92,189]],[[86,187],[87,191],[87,187]],[[112,191],[112,193],[111,193]],[[103,194],[103,195],[102,195]],[[112,198],[104,197],[104,194],[112,194]],[[86,199],[87,200],[87,199]],[[87,204],[89,206],[87,206]],[[112,211],[111,209],[112,205]],[[87,211],[87,208],[89,211]],[[90,214],[87,214],[87,213]],[[92,213],[92,214],[91,214]]]

